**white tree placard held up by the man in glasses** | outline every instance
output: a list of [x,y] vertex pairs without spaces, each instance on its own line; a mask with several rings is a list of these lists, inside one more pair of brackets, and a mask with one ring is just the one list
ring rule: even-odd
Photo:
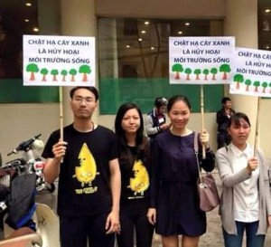
[[94,86],[95,38],[23,35],[23,85]]

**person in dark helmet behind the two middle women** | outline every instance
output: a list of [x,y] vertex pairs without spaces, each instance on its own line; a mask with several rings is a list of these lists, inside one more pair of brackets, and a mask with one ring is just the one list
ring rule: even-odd
[[145,133],[149,138],[154,138],[158,133],[170,128],[166,123],[166,106],[167,100],[159,97],[154,100],[154,109],[145,117]]

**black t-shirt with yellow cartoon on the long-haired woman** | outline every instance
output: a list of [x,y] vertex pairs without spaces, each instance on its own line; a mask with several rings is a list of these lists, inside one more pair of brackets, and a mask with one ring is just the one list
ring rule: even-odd
[[147,199],[149,196],[150,173],[147,157],[137,158],[136,147],[128,147],[135,157],[133,166],[120,160],[121,170],[121,201]]

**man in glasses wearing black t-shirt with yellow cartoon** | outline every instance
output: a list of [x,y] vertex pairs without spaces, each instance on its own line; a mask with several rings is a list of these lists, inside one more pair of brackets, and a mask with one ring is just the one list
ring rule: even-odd
[[[115,133],[92,121],[95,87],[70,90],[74,121],[44,147],[45,180],[59,176],[61,247],[113,247],[119,231],[120,170]],[[61,162],[62,161],[62,162]]]

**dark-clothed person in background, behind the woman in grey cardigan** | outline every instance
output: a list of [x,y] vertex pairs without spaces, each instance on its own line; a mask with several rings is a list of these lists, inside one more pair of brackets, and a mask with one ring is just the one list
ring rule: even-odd
[[230,136],[227,130],[230,117],[235,113],[234,109],[231,109],[231,100],[228,97],[224,97],[221,100],[222,109],[217,112],[217,124],[218,134],[217,143],[218,149],[225,147],[230,143]]

